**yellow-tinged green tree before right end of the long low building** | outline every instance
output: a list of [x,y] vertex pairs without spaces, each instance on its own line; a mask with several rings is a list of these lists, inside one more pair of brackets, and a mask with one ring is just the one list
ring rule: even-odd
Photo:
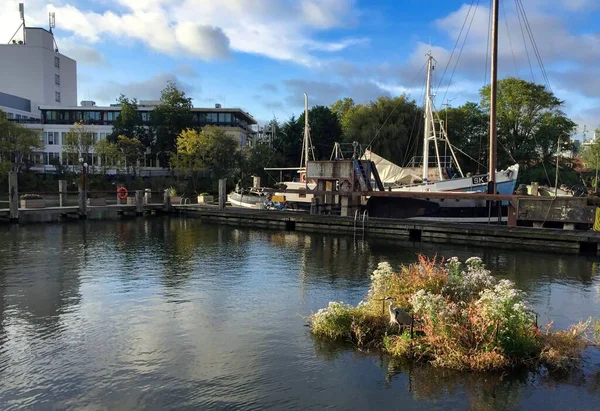
[[219,127],[207,126],[202,131],[186,129],[177,137],[177,152],[171,163],[191,177],[197,192],[203,172],[209,172],[214,181],[236,174],[240,163],[238,143]]

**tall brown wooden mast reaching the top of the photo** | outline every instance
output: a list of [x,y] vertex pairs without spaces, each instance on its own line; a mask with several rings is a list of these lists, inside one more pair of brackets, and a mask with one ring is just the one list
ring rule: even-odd
[[492,0],[492,73],[490,84],[490,161],[488,194],[496,194],[496,94],[498,91],[498,2]]

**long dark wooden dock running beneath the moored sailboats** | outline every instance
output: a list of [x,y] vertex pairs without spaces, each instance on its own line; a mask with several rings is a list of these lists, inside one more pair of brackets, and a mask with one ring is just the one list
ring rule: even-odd
[[310,215],[300,212],[263,211],[199,205],[175,205],[177,213],[210,222],[241,227],[266,228],[287,231],[344,233],[359,237],[411,240],[415,242],[444,242],[477,244],[497,248],[522,248],[538,251],[567,253],[597,253],[600,233],[586,230],[562,230],[501,225],[424,222],[357,218],[331,215]]

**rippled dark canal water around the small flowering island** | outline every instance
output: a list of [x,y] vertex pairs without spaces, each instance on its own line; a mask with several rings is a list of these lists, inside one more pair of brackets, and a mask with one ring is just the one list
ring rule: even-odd
[[558,328],[600,316],[595,257],[238,229],[194,219],[0,227],[0,409],[598,410],[569,374],[454,373],[314,339],[381,261],[480,256]]

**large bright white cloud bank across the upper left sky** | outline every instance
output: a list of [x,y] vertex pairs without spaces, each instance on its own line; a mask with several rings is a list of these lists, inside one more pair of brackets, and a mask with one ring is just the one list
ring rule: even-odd
[[[58,29],[78,41],[133,41],[165,54],[191,54],[203,60],[226,57],[231,49],[315,65],[315,51],[332,53],[364,43],[364,39],[318,39],[320,31],[347,25],[354,19],[354,0],[251,3],[249,7],[247,0],[117,0],[105,6],[106,11],[95,12],[74,0],[31,0],[26,17],[30,24],[45,25],[47,12],[52,10]],[[17,3],[14,11],[10,11],[11,5],[0,0],[1,9],[9,10],[0,17],[0,38],[6,40],[19,24]]]

